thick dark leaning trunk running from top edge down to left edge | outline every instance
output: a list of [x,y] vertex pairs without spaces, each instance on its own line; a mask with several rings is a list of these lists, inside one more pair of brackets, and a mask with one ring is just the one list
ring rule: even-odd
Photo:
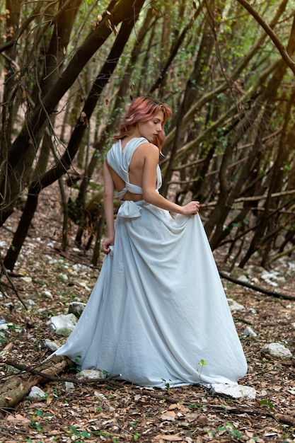
[[[28,151],[28,149],[30,149],[30,144],[32,144],[40,130],[42,130],[42,126],[47,120],[47,117],[54,113],[59,100],[74,83],[88,60],[91,59],[98,48],[103,45],[103,42],[105,42],[118,23],[121,21],[129,21],[129,23],[133,23],[134,16],[138,15],[143,3],[144,0],[120,0],[119,3],[108,10],[108,13],[105,13],[105,16],[100,24],[90,33],[90,35],[88,35],[84,43],[76,51],[76,54],[71,59],[71,62],[69,62],[68,67],[66,67],[54,86],[50,88],[50,91],[45,94],[44,98],[42,99],[42,103],[39,103],[35,107],[32,117],[28,117],[26,125],[23,127],[20,134],[18,134],[18,137],[16,137],[16,140],[11,145],[11,149],[9,149],[8,152],[9,171],[8,176],[6,177],[6,183],[2,185],[1,188],[1,196],[6,195],[6,189],[9,188],[11,181],[14,180],[13,171],[16,168],[16,165],[22,161],[23,155],[26,151]],[[90,106],[90,108],[92,107],[91,102],[96,103],[95,96],[88,98],[88,106]],[[72,142],[72,144],[75,143]],[[71,149],[69,148],[69,151],[70,150]],[[61,173],[64,173],[66,165],[69,165],[71,159],[71,152],[66,152],[61,159],[59,166],[57,166],[58,172],[56,171],[56,173],[53,175],[52,171],[49,172],[45,178],[46,183],[52,183],[50,180],[57,180]],[[6,207],[8,207],[11,201],[13,201],[15,198],[16,195],[10,195],[8,199],[3,199],[1,205],[3,209],[1,211],[0,226],[11,214],[11,208],[9,208],[8,211],[6,210]]]

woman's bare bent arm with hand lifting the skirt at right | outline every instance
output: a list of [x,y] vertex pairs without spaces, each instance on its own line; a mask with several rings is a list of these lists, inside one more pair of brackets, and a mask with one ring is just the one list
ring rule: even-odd
[[149,144],[145,150],[144,170],[142,175],[142,191],[146,202],[176,214],[193,215],[199,211],[199,202],[189,202],[180,206],[170,202],[163,195],[156,191],[156,168],[158,165],[158,148],[154,144]]

